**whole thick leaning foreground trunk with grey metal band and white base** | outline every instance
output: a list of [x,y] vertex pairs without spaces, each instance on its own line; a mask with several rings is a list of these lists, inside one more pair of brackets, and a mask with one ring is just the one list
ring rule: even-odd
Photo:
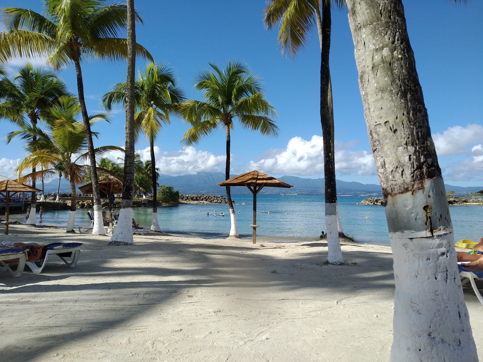
[[390,361],[478,361],[401,0],[346,0],[394,257]]

